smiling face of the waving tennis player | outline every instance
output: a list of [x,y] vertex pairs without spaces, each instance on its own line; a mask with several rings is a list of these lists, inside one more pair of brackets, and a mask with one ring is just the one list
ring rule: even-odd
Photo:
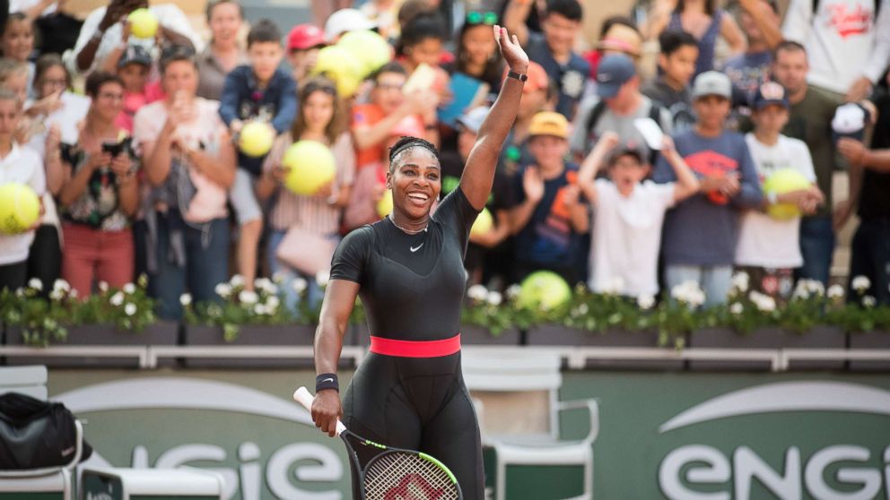
[[394,211],[408,219],[427,217],[441,191],[441,167],[431,151],[415,146],[398,154],[387,174]]

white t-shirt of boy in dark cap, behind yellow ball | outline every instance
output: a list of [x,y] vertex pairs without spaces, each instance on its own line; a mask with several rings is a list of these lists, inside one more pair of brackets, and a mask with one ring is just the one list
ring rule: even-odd
[[[816,182],[806,143],[780,135],[775,145],[765,146],[751,133],[745,135],[745,142],[761,183],[782,168],[794,168],[810,182]],[[799,228],[799,217],[776,220],[763,211],[746,211],[738,231],[736,263],[772,269],[800,267],[804,260],[800,254]]]

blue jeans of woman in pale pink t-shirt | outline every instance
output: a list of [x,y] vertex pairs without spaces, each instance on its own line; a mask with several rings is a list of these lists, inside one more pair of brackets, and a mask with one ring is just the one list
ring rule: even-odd
[[160,301],[158,315],[164,319],[182,318],[179,297],[188,290],[192,300],[218,302],[216,285],[229,279],[229,221],[214,219],[207,223],[207,234],[199,228],[186,225],[183,230],[185,265],[177,265],[170,251],[170,226],[163,222],[167,217],[179,217],[178,212],[159,214],[158,270],[149,275],[150,290]]

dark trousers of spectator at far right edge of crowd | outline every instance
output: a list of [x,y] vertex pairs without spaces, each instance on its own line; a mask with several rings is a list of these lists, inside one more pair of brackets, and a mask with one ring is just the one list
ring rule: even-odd
[[[890,306],[890,220],[862,220],[851,244],[850,279],[865,276],[871,281],[867,295]],[[848,297],[859,297],[850,290]]]

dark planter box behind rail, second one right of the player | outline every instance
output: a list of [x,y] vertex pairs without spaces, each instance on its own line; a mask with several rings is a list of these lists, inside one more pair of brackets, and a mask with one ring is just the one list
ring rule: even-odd
[[[568,328],[558,324],[542,324],[527,332],[529,346],[578,346],[591,348],[646,348],[674,349],[672,346],[659,346],[659,333],[654,330],[627,332],[607,330],[589,332]],[[591,357],[585,361],[585,368],[682,370],[682,359],[615,359]]]

